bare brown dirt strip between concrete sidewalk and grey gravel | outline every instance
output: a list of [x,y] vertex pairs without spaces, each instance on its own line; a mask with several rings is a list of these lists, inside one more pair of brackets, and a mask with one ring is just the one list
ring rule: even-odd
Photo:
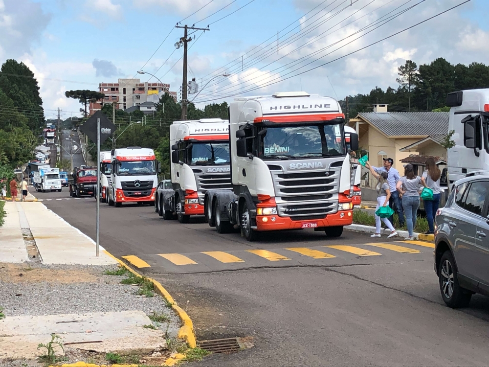
[[28,264],[0,264],[0,281],[5,283],[88,283],[104,281],[91,269],[44,269]]

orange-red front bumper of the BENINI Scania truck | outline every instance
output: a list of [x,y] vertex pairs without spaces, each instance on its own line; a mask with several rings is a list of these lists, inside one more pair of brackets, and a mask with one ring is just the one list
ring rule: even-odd
[[[264,218],[266,218],[265,221]],[[278,215],[257,215],[256,217],[256,227],[259,231],[302,229],[303,223],[315,223],[317,226],[311,227],[314,229],[349,226],[353,223],[353,210],[341,210],[334,214],[328,214],[322,219],[310,220],[292,220],[289,217],[279,217]]]

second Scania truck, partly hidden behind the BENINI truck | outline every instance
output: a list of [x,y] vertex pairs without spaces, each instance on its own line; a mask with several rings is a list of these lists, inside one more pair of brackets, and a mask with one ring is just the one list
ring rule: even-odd
[[[188,223],[191,215],[206,215],[208,190],[231,189],[229,122],[220,118],[175,121],[170,125],[173,189],[158,190],[158,214]],[[207,217],[207,215],[206,215]]]

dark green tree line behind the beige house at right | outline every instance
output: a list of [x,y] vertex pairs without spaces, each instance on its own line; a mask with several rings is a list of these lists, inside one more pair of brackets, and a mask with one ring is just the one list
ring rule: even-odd
[[[489,66],[473,62],[453,65],[438,58],[419,67],[412,60],[398,68],[397,88],[375,87],[367,94],[348,96],[349,117],[371,112],[375,103],[388,104],[392,112],[448,111],[446,94],[467,89],[489,88]],[[340,101],[346,112],[346,99]]]

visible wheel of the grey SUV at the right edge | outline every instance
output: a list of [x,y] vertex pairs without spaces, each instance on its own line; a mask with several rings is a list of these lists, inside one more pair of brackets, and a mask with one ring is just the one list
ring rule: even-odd
[[446,305],[451,308],[467,307],[472,293],[459,285],[457,269],[451,252],[445,251],[439,266],[440,292]]

